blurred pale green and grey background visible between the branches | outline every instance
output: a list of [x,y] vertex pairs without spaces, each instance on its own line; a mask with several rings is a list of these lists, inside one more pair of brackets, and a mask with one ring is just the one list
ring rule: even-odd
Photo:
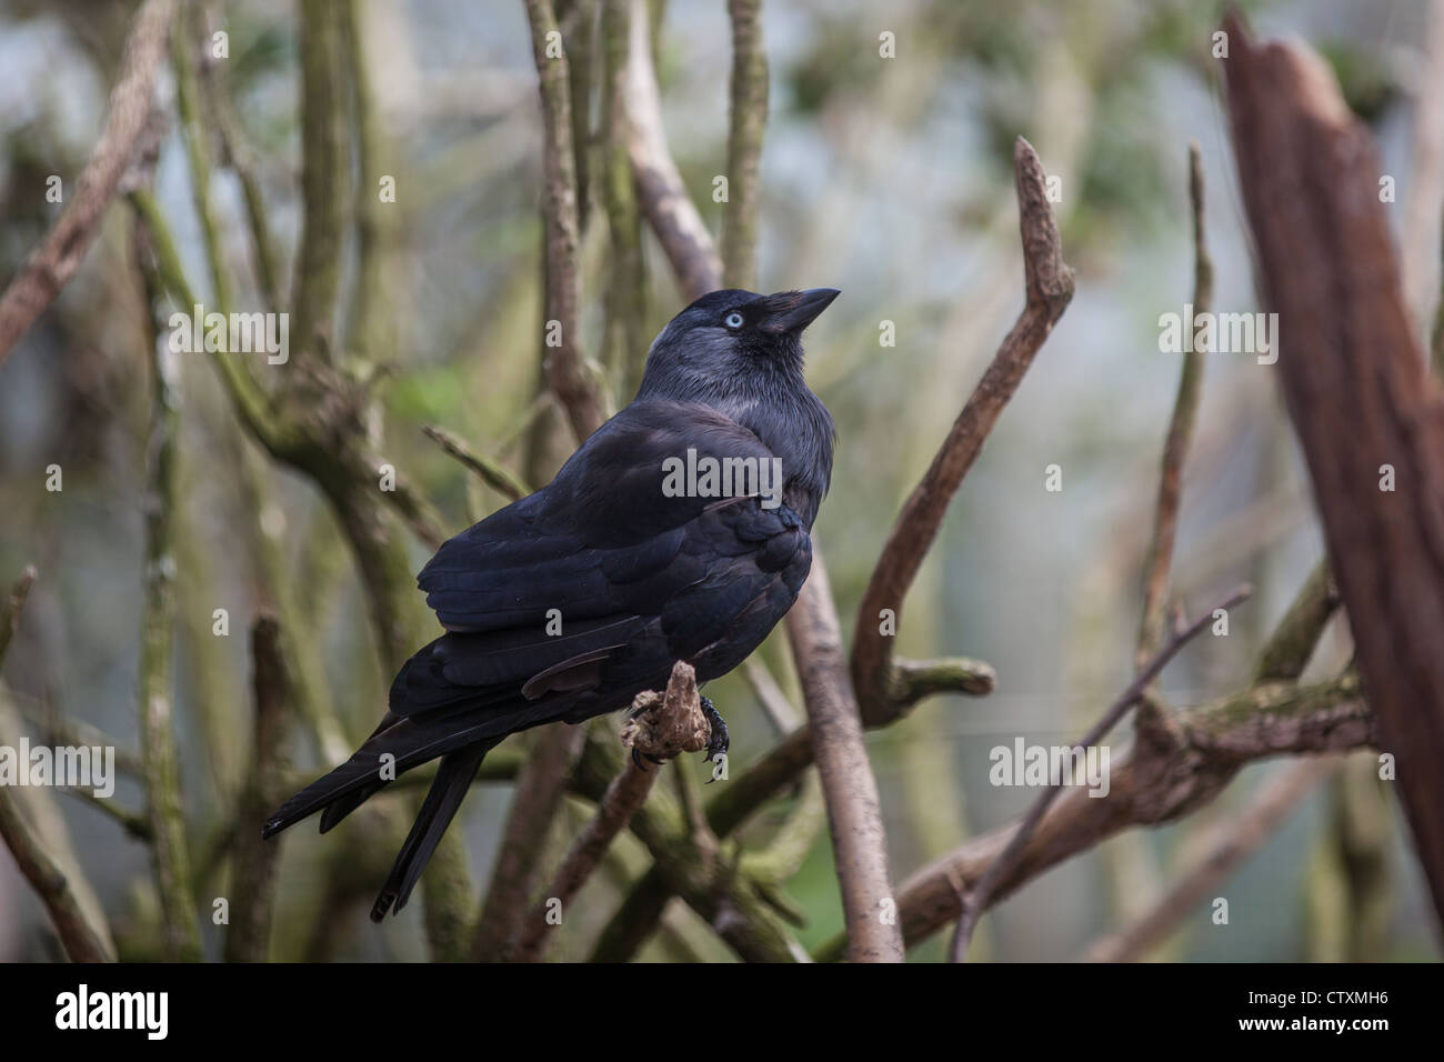
[[[1245,9],[1259,30],[1302,36],[1327,56],[1402,188],[1422,0],[1278,0]],[[0,0],[0,276],[16,269],[58,211],[45,199],[46,178],[58,173],[71,186],[88,156],[133,10],[123,0]],[[384,416],[373,429],[378,452],[452,533],[504,498],[429,442],[423,425],[455,432],[534,483],[565,457],[563,448],[524,467],[529,431],[556,422],[547,403],[537,405],[536,71],[518,1],[374,0],[361,10],[383,172],[396,176],[397,188],[380,315],[388,337],[380,353]],[[761,286],[843,290],[810,329],[807,347],[809,377],[840,431],[817,539],[849,633],[898,506],[1021,305],[1011,168],[1018,134],[1061,179],[1064,256],[1079,270],[1073,306],[960,491],[900,633],[908,656],[966,653],[991,662],[998,691],[980,701],[931,701],[868,737],[898,880],[1024,809],[1027,790],[988,785],[991,747],[1019,734],[1044,744],[1070,740],[1131,676],[1158,454],[1180,367],[1158,351],[1158,316],[1181,312],[1191,292],[1190,140],[1199,142],[1207,173],[1214,303],[1256,306],[1209,58],[1217,14],[1214,4],[1188,0],[764,4],[771,116]],[[722,208],[710,188],[726,159],[725,4],[654,0],[653,16],[671,150],[718,231]],[[282,257],[290,262],[299,228],[295,13],[282,0],[254,0],[209,4],[209,17],[230,33],[221,82],[256,147]],[[895,59],[878,56],[882,30],[897,36]],[[169,75],[165,85],[170,92]],[[589,169],[595,176],[595,157]],[[175,130],[162,147],[156,191],[208,299]],[[593,181],[583,207],[583,350],[604,360],[609,244],[598,194]],[[212,195],[222,233],[234,234],[225,247],[243,283],[235,302],[258,305],[241,237],[244,204],[230,172],[217,173]],[[111,211],[82,272],[0,367],[0,574],[30,562],[40,569],[7,660],[4,696],[22,717],[61,709],[134,748],[149,389],[127,233],[129,218]],[[680,299],[647,238],[654,334]],[[895,347],[879,347],[882,321],[895,322]],[[622,366],[605,360],[605,367],[614,403],[625,403]],[[258,364],[257,371],[273,370]],[[243,777],[250,734],[244,631],[263,604],[257,529],[284,551],[323,649],[325,696],[348,737],[374,725],[390,675],[378,665],[360,584],[325,501],[296,474],[261,459],[201,355],[185,361],[183,389],[176,712],[192,851],[205,871],[198,894],[209,897],[224,894],[224,867],[211,865],[208,854],[224,838],[222,809]],[[1262,633],[1321,551],[1269,371],[1248,357],[1210,355],[1199,423],[1174,585],[1194,608],[1242,579],[1259,592],[1236,613],[1229,637],[1201,639],[1170,669],[1164,691],[1175,704],[1225,692],[1248,673]],[[45,490],[51,464],[64,468],[64,493]],[[1061,493],[1044,490],[1050,464],[1063,468]],[[413,542],[412,552],[419,569],[427,551]],[[212,636],[215,608],[228,610],[230,637]],[[764,652],[784,688],[794,689],[780,639]],[[1314,669],[1333,673],[1349,653],[1336,620]],[[739,676],[709,692],[731,722],[734,763],[773,743]],[[293,756],[305,769],[329,766],[302,740]],[[1190,838],[1226,818],[1266,770],[1246,770],[1183,824],[1115,838],[1031,883],[985,919],[980,951],[1001,959],[1079,955],[1147,909],[1187,857]],[[1350,806],[1362,800],[1359,813],[1372,824],[1366,889],[1383,915],[1369,939],[1347,932],[1365,886],[1359,858],[1340,852],[1354,851],[1359,829],[1349,829],[1340,812],[1347,783],[1331,785],[1222,887],[1232,925],[1210,925],[1200,907],[1157,954],[1430,958],[1405,831],[1392,802],[1380,799],[1376,783],[1370,789],[1369,772],[1362,790],[1353,786]],[[134,808],[139,789],[123,782],[116,799]],[[478,785],[462,811],[478,881],[490,873],[508,799],[510,786]],[[81,863],[120,926],[123,955],[155,954],[156,900],[143,847],[91,806],[69,799],[61,806]],[[585,805],[569,805],[565,828],[573,831],[585,815]],[[765,832],[774,821],[764,815],[752,829]],[[393,851],[373,825],[358,818],[325,838],[309,828],[287,835],[277,957],[423,955],[414,907],[383,929],[364,922],[358,903],[370,900]],[[328,878],[338,852],[355,857],[349,892]],[[621,884],[643,865],[643,850],[624,837],[608,874],[583,893],[578,928],[567,928],[559,955],[586,954]],[[788,892],[809,916],[804,944],[840,929],[825,829]],[[693,954],[725,958],[689,925],[692,918],[674,912],[676,933]],[[208,919],[205,929],[214,929]],[[934,939],[914,957],[940,952]],[[0,958],[53,954],[40,906],[0,860]],[[666,942],[644,952],[676,954]]]

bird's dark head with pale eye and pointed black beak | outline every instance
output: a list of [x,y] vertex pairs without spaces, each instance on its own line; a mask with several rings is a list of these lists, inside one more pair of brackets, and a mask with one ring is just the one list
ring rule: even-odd
[[836,299],[835,288],[758,295],[708,292],[651,344],[641,393],[687,399],[719,386],[801,383],[803,329]]

